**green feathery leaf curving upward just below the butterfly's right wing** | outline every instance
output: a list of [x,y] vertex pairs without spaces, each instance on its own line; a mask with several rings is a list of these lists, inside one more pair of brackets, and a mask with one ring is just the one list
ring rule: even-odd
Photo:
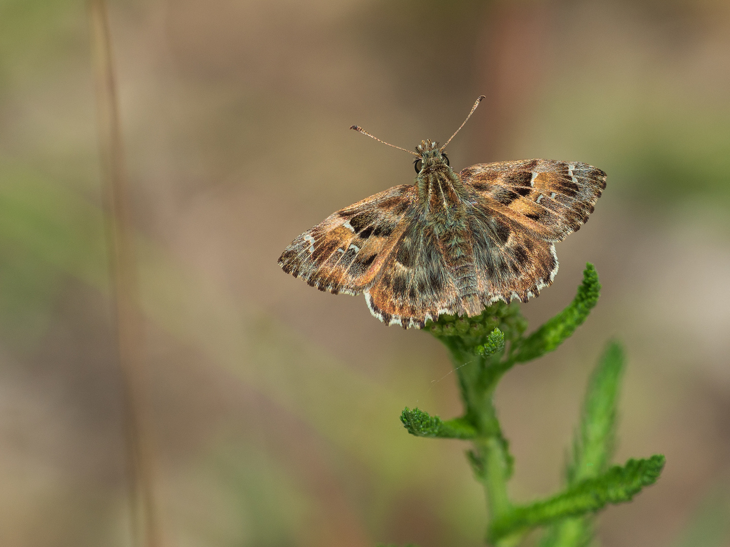
[[512,362],[525,362],[537,359],[552,352],[580,326],[593,306],[598,302],[601,284],[593,264],[587,263],[583,271],[583,283],[578,287],[575,299],[545,325],[525,338],[512,355]]

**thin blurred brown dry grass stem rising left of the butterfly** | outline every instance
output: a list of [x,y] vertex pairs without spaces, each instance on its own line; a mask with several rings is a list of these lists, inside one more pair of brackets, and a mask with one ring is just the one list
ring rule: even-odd
[[158,547],[162,541],[153,493],[153,458],[148,427],[150,411],[142,360],[142,318],[138,307],[134,234],[128,206],[109,22],[104,0],[90,0],[89,8],[107,204],[111,287],[123,378],[132,536],[136,546]]

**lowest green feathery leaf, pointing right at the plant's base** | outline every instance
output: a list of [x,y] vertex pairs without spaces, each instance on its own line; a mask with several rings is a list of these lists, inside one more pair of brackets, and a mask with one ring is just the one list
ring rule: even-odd
[[602,476],[580,481],[548,500],[515,507],[510,513],[492,521],[488,540],[494,543],[504,536],[556,519],[599,511],[607,503],[627,502],[644,486],[656,482],[662,468],[664,456],[661,455],[629,459],[623,467],[616,465]]

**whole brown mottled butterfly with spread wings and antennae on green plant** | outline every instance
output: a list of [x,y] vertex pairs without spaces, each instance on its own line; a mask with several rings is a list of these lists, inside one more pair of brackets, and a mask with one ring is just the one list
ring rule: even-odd
[[539,295],[558,272],[554,243],[588,220],[606,174],[556,160],[477,163],[457,174],[444,153],[456,133],[416,152],[385,142],[416,156],[414,184],[331,214],[292,241],[279,265],[319,290],[363,292],[375,317],[404,328]]

